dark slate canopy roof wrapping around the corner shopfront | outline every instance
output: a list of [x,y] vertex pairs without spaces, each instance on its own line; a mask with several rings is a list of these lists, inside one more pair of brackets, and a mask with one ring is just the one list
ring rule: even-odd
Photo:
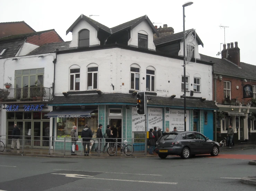
[[[180,98],[168,98],[160,96],[151,96],[152,99],[147,103],[148,105],[161,105],[163,107],[184,107],[184,99]],[[136,96],[126,93],[104,93],[101,95],[84,94],[84,95],[71,95],[71,96],[55,96],[50,102],[50,105],[61,105],[61,104],[74,104],[74,103],[129,103],[134,104]],[[188,108],[205,108],[205,109],[218,109],[213,101],[201,101],[186,99],[186,106]]]

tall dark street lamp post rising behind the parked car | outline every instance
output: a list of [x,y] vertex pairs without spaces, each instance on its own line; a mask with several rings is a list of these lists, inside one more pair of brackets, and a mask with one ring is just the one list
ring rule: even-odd
[[185,36],[185,7],[192,5],[193,2],[192,1],[188,1],[186,3],[184,3],[182,5],[183,7],[183,59],[184,59],[184,76],[183,76],[183,80],[184,80],[184,131],[186,131],[186,122],[187,122],[187,113],[186,113],[186,51],[185,51],[185,43],[186,43],[186,36]]

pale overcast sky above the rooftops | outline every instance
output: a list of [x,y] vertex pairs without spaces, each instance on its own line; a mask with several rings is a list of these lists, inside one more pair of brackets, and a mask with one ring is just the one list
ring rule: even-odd
[[[145,14],[153,25],[174,28],[174,33],[183,31],[184,0],[12,0],[0,2],[0,22],[25,21],[36,31],[55,29],[64,41],[70,41],[72,34],[67,29],[81,15],[111,28]],[[238,42],[240,61],[256,65],[254,59],[256,24],[254,22],[255,0],[193,0],[185,7],[185,29],[196,29],[204,47],[199,53],[221,58],[216,54],[223,49],[224,29],[226,43]]]

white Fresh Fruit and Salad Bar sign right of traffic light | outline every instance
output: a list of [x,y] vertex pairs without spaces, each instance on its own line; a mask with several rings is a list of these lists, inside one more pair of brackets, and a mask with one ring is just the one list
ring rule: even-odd
[[163,129],[163,110],[162,108],[148,108],[148,131],[154,127]]

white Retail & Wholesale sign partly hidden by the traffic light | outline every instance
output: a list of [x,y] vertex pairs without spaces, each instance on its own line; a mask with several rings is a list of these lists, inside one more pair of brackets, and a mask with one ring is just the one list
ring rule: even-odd
[[139,115],[137,110],[132,107],[132,131],[145,131],[145,115]]

